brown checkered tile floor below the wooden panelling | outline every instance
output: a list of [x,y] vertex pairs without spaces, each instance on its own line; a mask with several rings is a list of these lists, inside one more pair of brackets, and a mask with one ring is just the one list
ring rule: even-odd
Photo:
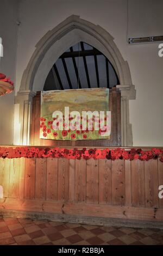
[[163,230],[0,218],[0,245],[163,245]]

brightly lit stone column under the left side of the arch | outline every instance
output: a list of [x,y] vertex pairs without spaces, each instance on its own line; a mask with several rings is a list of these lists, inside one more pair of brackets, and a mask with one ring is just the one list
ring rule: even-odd
[[[15,97],[14,144],[29,145],[32,99],[35,95],[31,90],[20,90]],[[20,127],[19,132],[17,127]]]

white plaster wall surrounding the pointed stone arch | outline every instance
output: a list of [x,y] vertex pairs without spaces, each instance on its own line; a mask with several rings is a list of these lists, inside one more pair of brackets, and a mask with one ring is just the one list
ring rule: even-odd
[[[163,35],[161,0],[129,0],[128,36]],[[163,145],[163,57],[158,56],[158,42],[127,43],[126,0],[22,0],[18,28],[16,91],[36,43],[49,29],[68,16],[100,25],[114,38],[124,60],[128,61],[136,89],[130,101],[130,123],[135,146]]]

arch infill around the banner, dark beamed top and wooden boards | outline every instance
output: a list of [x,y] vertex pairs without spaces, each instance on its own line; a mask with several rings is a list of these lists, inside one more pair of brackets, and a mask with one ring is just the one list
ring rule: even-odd
[[71,46],[62,53],[49,71],[43,90],[109,88],[111,111],[110,139],[87,141],[53,141],[39,138],[40,92],[33,99],[30,144],[108,147],[121,146],[121,93],[116,90],[118,76],[109,59],[85,42]]

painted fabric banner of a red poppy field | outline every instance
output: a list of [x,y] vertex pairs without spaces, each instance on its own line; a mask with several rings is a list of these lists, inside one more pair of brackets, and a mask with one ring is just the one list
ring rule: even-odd
[[[90,113],[89,117],[83,114],[85,112]],[[103,114],[101,114],[102,112]],[[108,88],[41,92],[40,138],[108,139],[110,133],[106,132],[105,128],[106,120],[109,117],[108,112]],[[103,127],[100,121],[104,122]]]

